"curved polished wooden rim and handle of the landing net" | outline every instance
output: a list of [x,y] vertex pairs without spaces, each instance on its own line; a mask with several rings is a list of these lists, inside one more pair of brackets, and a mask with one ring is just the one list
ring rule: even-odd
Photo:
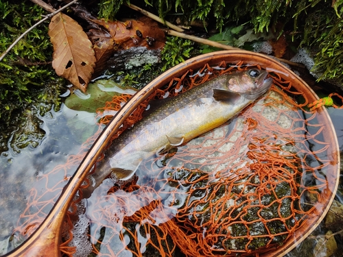
[[[80,163],[77,171],[75,171],[69,180],[68,184],[64,187],[64,191],[56,201],[54,208],[52,208],[51,212],[49,212],[49,215],[46,217],[45,221],[40,224],[39,228],[31,236],[29,236],[29,238],[27,238],[22,245],[14,249],[14,251],[8,253],[6,256],[22,256],[28,253],[33,254],[34,252],[45,252],[49,256],[60,256],[60,228],[62,227],[61,224],[64,220],[64,215],[67,213],[69,204],[71,204],[73,197],[78,192],[78,188],[86,178],[88,171],[92,169],[93,164],[95,164],[97,158],[99,158],[106,145],[110,142],[110,138],[115,135],[117,130],[119,130],[119,127],[123,121],[127,119],[134,109],[137,108],[140,103],[145,101],[145,99],[147,99],[147,97],[149,97],[154,90],[167,84],[173,77],[180,77],[189,69],[200,69],[205,64],[216,65],[222,61],[233,64],[238,62],[243,62],[244,64],[259,64],[267,71],[277,71],[280,73],[281,77],[292,80],[295,88],[306,92],[310,101],[316,101],[319,99],[316,93],[314,93],[314,91],[303,81],[303,79],[298,77],[298,75],[296,75],[293,71],[290,71],[278,60],[270,58],[269,56],[265,56],[261,53],[253,53],[244,50],[217,51],[191,58],[178,64],[177,66],[174,66],[165,73],[156,77],[156,79],[152,80],[152,82],[147,84],[147,86],[139,90],[139,92],[137,92],[121,108],[121,110],[117,112],[115,117],[113,117],[112,121],[110,121],[110,123],[105,127],[102,134],[99,135],[91,149],[88,151]],[[319,216],[317,213],[317,215],[313,215],[313,217],[307,219],[307,226],[305,226],[307,229],[297,230],[294,236],[289,237],[284,245],[274,249],[274,251],[265,252],[259,256],[276,257],[287,254],[287,252],[291,251],[294,247],[296,247],[296,245],[301,243],[301,241],[311,234],[313,230],[316,229],[322,219],[324,219],[324,216],[327,214],[332,204],[339,182],[337,178],[339,178],[340,174],[340,151],[338,147],[338,139],[333,128],[333,123],[331,122],[331,118],[329,117],[327,110],[324,108],[324,106],[322,106],[320,109],[318,109],[318,112],[320,112],[320,116],[326,124],[325,132],[323,132],[323,134],[327,137],[326,140],[330,138],[331,152],[334,153],[333,171],[328,174],[328,180],[332,181],[331,183],[329,182],[329,186],[331,186],[331,188],[328,188],[328,200],[325,201],[326,207]],[[316,208],[314,208],[314,210],[316,210]],[[294,243],[294,241],[296,241],[296,243]]]

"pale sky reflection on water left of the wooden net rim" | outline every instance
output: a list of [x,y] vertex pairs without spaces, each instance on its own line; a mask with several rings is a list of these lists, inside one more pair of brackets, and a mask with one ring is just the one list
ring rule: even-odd
[[[80,117],[80,119],[75,119]],[[80,132],[80,127],[73,127],[70,119],[77,123],[86,124],[88,134],[97,130],[94,114],[86,114],[85,112],[73,112],[73,110],[62,106],[59,112],[51,110],[45,114],[45,117],[40,117],[43,123],[40,127],[45,131],[45,137],[36,147],[26,147],[21,149],[20,153],[12,151],[4,152],[0,157],[0,191],[1,191],[1,210],[0,210],[0,241],[3,244],[4,254],[7,252],[6,243],[12,244],[15,247],[23,238],[14,236],[10,241],[10,236],[14,232],[14,228],[21,225],[25,220],[20,219],[20,215],[25,212],[34,213],[37,210],[27,210],[27,202],[30,197],[44,195],[46,191],[51,191],[46,198],[39,198],[40,201],[51,201],[57,199],[61,193],[64,184],[56,184],[63,181],[64,176],[71,176],[73,169],[69,173],[56,173],[45,179],[46,174],[52,171],[59,164],[65,164],[69,156],[77,154],[80,145],[80,135],[85,131]],[[85,125],[83,126],[85,127]],[[76,167],[75,167],[76,168]],[[74,168],[74,171],[75,171]],[[37,197],[38,199],[38,197]],[[42,212],[48,213],[52,205],[45,203]],[[10,247],[11,249],[11,247]]]

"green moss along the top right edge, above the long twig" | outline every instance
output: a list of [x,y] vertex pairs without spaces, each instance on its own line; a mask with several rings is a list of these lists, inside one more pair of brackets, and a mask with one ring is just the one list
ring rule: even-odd
[[317,53],[316,68],[322,70],[322,78],[334,77],[343,82],[340,60],[343,0],[145,0],[145,3],[156,8],[162,18],[182,12],[185,21],[200,19],[220,32],[227,24],[237,22],[250,23],[260,33],[271,30],[281,34],[286,26],[295,32],[294,40],[300,40],[301,45]]

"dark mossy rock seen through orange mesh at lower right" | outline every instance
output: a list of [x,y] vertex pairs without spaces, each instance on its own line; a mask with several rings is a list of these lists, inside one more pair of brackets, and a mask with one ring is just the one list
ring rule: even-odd
[[[245,181],[233,181],[233,185],[223,180],[209,185],[208,174],[200,171],[178,169],[172,175],[179,184],[173,180],[169,186],[191,192],[187,199],[174,202],[174,206],[179,209],[178,215],[189,219],[186,221],[189,225],[183,225],[193,228],[193,232],[202,233],[204,241],[217,237],[216,243],[212,245],[215,249],[244,250],[248,247],[257,250],[265,247],[268,242],[282,244],[287,231],[292,227],[289,219],[292,205],[289,196],[292,189],[286,182],[276,184],[276,195],[265,193],[260,195],[259,200],[254,196],[260,190],[258,175],[246,176],[243,179]],[[199,182],[193,184],[193,181]],[[283,218],[288,220],[283,222]],[[248,240],[248,236],[252,236],[252,241]]]

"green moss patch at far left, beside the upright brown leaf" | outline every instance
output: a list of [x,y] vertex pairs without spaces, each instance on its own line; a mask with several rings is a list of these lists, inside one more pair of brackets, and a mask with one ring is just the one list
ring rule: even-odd
[[[40,21],[43,14],[30,1],[0,0],[0,52]],[[44,115],[53,106],[55,110],[60,106],[58,95],[64,80],[51,67],[48,25],[49,21],[29,32],[0,62],[0,151],[7,151],[13,131],[23,134],[14,136],[11,145],[20,148],[37,145],[43,134],[35,129],[39,128],[39,121],[33,116]],[[28,114],[34,123],[25,121]]]

